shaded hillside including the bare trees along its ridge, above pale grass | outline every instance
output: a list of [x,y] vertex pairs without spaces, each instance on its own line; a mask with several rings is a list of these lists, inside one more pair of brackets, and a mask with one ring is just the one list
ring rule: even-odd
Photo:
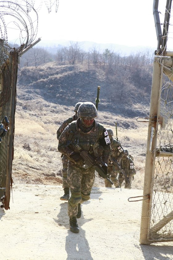
[[148,114],[152,82],[150,51],[121,57],[108,49],[103,53],[95,48],[85,52],[78,43],[71,43],[69,48],[58,49],[52,62],[48,62],[52,56],[47,59],[44,49],[31,51],[33,54],[23,55],[20,63],[24,60],[27,63],[21,66],[18,76],[18,84],[25,89],[25,100],[37,94],[48,102],[74,106],[78,101],[95,102],[97,86],[101,86],[100,111],[127,117]]

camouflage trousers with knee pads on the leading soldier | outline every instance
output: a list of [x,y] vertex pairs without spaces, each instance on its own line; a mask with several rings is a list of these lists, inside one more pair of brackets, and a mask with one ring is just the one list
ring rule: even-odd
[[67,169],[67,184],[70,187],[71,196],[68,201],[68,215],[74,217],[78,213],[78,203],[90,199],[91,189],[95,180],[95,170],[70,167]]

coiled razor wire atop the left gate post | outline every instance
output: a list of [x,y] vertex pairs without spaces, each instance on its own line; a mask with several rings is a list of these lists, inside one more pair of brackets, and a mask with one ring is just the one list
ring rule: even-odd
[[38,31],[38,12],[44,4],[48,13],[51,12],[53,6],[57,12],[59,0],[0,1],[0,37],[4,41],[6,50],[13,49],[13,46],[8,44],[10,32],[15,32],[15,38],[20,40],[20,45],[24,43],[23,48],[35,40]]

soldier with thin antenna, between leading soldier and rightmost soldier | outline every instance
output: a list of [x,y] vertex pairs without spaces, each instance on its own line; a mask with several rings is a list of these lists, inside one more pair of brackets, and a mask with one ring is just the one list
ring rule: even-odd
[[[116,141],[116,139],[113,138],[113,131],[110,128],[107,128],[109,139],[111,141],[111,157],[116,159],[118,163],[120,163],[120,159],[124,156],[125,152],[122,148],[120,141]],[[110,176],[110,179],[114,183],[116,188],[120,188],[119,186],[119,180],[118,180],[118,174],[120,173],[120,170],[116,167],[115,163],[111,163],[109,160],[108,163],[108,174]],[[112,185],[108,180],[104,180],[105,187],[111,188]]]

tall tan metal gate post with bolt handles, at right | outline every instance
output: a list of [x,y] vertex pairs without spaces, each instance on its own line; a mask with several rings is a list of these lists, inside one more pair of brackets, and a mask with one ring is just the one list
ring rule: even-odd
[[153,65],[153,79],[151,89],[151,100],[150,100],[150,117],[155,117],[155,122],[149,121],[148,125],[148,138],[147,138],[147,149],[146,149],[146,164],[145,164],[145,176],[144,176],[144,189],[143,195],[150,194],[150,199],[142,202],[141,212],[141,232],[140,232],[140,243],[150,244],[148,241],[148,232],[150,227],[150,212],[152,202],[152,178],[154,175],[155,167],[155,152],[154,149],[157,143],[157,129],[158,129],[158,116],[160,109],[160,89],[162,87],[162,71],[161,65],[158,63],[158,59],[154,59]]

